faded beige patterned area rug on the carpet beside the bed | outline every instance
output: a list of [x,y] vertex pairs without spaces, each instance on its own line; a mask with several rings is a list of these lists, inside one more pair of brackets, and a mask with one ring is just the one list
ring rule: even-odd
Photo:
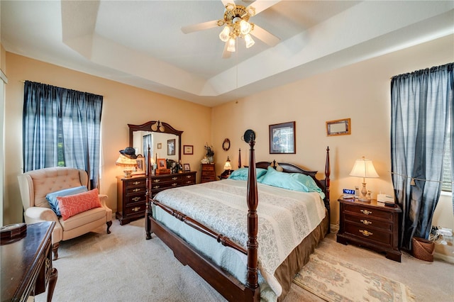
[[404,284],[317,250],[293,282],[326,301],[414,301]]

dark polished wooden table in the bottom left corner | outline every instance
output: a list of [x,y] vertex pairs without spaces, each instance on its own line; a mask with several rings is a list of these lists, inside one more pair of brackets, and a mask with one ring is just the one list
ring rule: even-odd
[[48,284],[52,301],[58,274],[52,267],[54,227],[54,221],[33,223],[23,236],[1,240],[1,301],[26,301],[44,293]]

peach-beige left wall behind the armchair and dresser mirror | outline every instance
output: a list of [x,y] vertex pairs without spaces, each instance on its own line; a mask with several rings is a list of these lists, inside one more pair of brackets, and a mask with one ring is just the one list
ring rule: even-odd
[[109,196],[109,207],[114,212],[116,175],[122,174],[115,161],[118,150],[128,146],[128,123],[142,124],[159,119],[177,130],[183,130],[182,144],[194,145],[194,155],[182,155],[182,162],[189,163],[194,170],[200,166],[199,160],[204,156],[205,142],[210,142],[211,138],[211,108],[31,60],[11,52],[6,52],[6,65],[9,71],[7,74],[9,84],[6,85],[4,224],[22,221],[17,175],[21,174],[23,169],[21,157],[23,80],[104,96],[101,118],[103,167],[100,191]]

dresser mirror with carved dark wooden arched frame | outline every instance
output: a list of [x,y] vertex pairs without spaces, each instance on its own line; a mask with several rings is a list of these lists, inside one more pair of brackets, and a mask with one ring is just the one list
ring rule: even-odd
[[148,156],[148,145],[153,159],[165,158],[180,162],[183,131],[175,130],[171,125],[161,121],[149,121],[142,125],[129,127],[129,147],[135,149],[135,154]]

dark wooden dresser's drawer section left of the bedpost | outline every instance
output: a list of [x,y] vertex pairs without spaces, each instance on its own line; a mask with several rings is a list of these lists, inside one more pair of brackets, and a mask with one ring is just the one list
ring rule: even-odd
[[116,213],[120,224],[145,217],[147,177],[116,177]]

